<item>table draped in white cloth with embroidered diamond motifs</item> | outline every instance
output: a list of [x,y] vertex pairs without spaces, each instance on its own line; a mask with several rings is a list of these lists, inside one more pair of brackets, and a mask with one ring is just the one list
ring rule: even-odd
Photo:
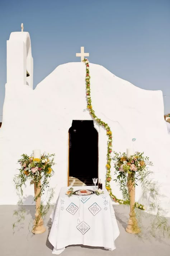
[[[93,186],[73,187],[91,189]],[[102,195],[67,196],[69,187],[61,188],[50,218],[52,227],[48,240],[53,254],[60,254],[66,246],[83,244],[114,250],[119,228],[107,190]]]

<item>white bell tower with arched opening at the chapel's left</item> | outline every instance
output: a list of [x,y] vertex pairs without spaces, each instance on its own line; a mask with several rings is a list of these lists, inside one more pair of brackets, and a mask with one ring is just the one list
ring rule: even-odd
[[12,32],[7,41],[7,84],[27,84],[33,88],[33,58],[28,32]]

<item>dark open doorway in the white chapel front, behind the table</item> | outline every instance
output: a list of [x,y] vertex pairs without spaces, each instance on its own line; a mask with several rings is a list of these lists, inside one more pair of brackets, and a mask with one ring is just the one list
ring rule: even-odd
[[[69,179],[71,177],[87,186],[93,184],[92,178],[98,178],[98,132],[93,120],[72,121],[69,129]],[[75,182],[71,186],[81,184]]]

